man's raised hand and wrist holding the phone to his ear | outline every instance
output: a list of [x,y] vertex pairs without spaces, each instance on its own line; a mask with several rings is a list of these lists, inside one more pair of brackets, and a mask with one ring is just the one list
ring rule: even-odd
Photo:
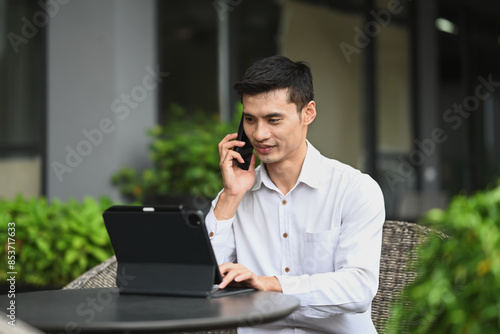
[[233,163],[233,159],[244,162],[241,154],[233,150],[235,146],[243,147],[245,145],[244,142],[235,140],[237,137],[237,133],[232,133],[219,143],[219,166],[224,191],[221,193],[214,210],[218,220],[230,219],[235,215],[243,195],[250,190],[255,181],[255,154],[252,154],[248,170],[243,170]]

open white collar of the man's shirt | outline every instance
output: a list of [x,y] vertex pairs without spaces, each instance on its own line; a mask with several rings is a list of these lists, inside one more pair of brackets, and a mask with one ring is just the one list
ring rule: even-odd
[[[312,146],[312,144],[308,140],[306,140],[306,142],[306,158],[304,159],[304,163],[302,164],[302,170],[300,171],[297,184],[304,183],[312,188],[318,188],[321,184],[321,180],[324,179],[323,169],[318,168],[319,166],[321,166],[321,154],[314,146]],[[264,184],[269,189],[276,189],[276,185],[269,177],[267,169],[265,168],[265,164],[263,163],[255,169],[255,182],[251,190],[255,191],[260,189],[262,184]]]

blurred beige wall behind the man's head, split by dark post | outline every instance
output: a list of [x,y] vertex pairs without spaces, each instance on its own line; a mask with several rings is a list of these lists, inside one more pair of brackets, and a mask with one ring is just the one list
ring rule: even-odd
[[[309,128],[309,140],[325,156],[363,170],[362,60],[367,51],[358,33],[366,31],[363,18],[291,0],[284,1],[282,14],[281,54],[312,67],[318,116]],[[379,153],[407,152],[411,148],[408,31],[390,23],[376,37]],[[352,49],[345,45],[357,50],[349,54]]]

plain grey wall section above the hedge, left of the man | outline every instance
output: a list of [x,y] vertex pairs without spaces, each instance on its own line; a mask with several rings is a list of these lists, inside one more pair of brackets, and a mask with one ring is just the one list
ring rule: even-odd
[[49,198],[119,199],[112,173],[148,165],[145,131],[156,118],[155,86],[168,80],[154,78],[155,11],[155,0],[73,0],[52,18]]

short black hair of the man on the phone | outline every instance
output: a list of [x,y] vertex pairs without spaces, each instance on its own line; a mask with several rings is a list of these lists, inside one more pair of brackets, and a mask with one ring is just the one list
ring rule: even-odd
[[233,88],[244,94],[257,95],[287,88],[288,102],[295,103],[300,112],[314,100],[311,68],[303,61],[294,62],[284,56],[272,56],[250,66]]

